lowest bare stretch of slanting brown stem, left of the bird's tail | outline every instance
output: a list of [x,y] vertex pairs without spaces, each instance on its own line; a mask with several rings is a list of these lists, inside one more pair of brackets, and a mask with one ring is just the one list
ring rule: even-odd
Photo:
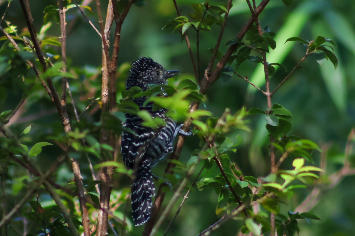
[[84,235],[90,236],[90,219],[88,215],[88,210],[86,208],[86,198],[84,192],[84,185],[83,185],[83,177],[80,173],[79,163],[71,159],[71,164],[73,167],[74,173],[74,181],[78,190],[78,198],[80,203],[80,211],[81,211],[81,222],[83,223],[83,230]]

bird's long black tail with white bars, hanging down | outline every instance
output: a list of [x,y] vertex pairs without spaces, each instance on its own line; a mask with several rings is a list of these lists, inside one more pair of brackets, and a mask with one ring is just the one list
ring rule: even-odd
[[138,167],[131,192],[133,221],[136,226],[143,225],[150,218],[152,197],[155,195],[150,160],[144,160]]

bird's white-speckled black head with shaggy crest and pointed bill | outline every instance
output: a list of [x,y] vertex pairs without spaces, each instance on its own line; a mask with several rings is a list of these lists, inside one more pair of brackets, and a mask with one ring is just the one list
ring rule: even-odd
[[166,85],[169,78],[180,73],[178,70],[165,70],[162,65],[154,62],[152,58],[142,57],[132,63],[130,76],[126,81],[126,89],[133,86],[147,90],[148,85]]

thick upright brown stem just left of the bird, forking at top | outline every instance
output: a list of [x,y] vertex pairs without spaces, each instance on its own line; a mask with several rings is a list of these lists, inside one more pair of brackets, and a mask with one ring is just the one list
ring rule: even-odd
[[[100,12],[100,2],[96,1],[98,12]],[[105,26],[103,25],[101,13],[98,13],[101,34],[102,37],[102,47],[103,47],[103,56],[102,56],[102,111],[101,111],[101,121],[105,122],[105,115],[114,108],[116,104],[116,69],[117,69],[117,58],[119,52],[120,44],[120,34],[122,24],[125,17],[127,16],[133,0],[130,0],[128,5],[125,7],[124,11],[120,14],[116,5],[116,1],[109,1],[107,9],[107,17]],[[109,31],[112,25],[113,18],[116,21],[115,28],[115,38],[113,44],[113,52],[111,60],[109,58],[108,52],[108,38]],[[116,137],[113,131],[108,132],[107,129],[101,129],[101,143],[108,143],[112,148],[115,148]],[[114,152],[112,152],[114,156]],[[100,206],[99,206],[99,215],[97,223],[97,235],[106,235],[107,234],[107,224],[108,224],[108,213],[109,213],[109,203],[110,195],[112,190],[112,177],[114,173],[114,168],[102,167],[100,169]]]

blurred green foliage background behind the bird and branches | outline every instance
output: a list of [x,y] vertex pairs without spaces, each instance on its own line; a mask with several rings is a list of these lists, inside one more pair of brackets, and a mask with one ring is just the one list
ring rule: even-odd
[[[190,4],[199,1],[177,1],[182,15],[192,11]],[[210,1],[219,4],[222,1]],[[32,15],[36,29],[39,31],[43,25],[43,10],[48,5],[56,5],[56,1],[35,0],[30,1]],[[102,2],[105,9],[106,1]],[[250,17],[250,11],[244,0],[233,1],[228,25],[220,46],[224,51],[228,46],[225,42],[233,39],[241,26]],[[0,5],[0,13],[4,12],[6,4]],[[94,2],[90,6],[93,12],[85,11],[88,18],[99,28],[96,18]],[[299,36],[312,40],[316,36],[324,36],[332,39],[337,45],[335,54],[339,65],[336,70],[331,62],[324,60],[320,65],[316,57],[308,57],[300,69],[275,93],[272,102],[282,104],[293,114],[291,123],[293,127],[290,134],[301,138],[311,139],[324,150],[323,154],[314,152],[313,160],[316,166],[320,166],[321,155],[327,161],[325,176],[334,173],[342,167],[344,162],[344,150],[347,136],[355,124],[355,2],[353,0],[294,0],[291,6],[285,6],[281,0],[270,1],[259,19],[261,26],[268,26],[276,33],[277,47],[267,55],[269,63],[282,63],[290,71],[294,65],[304,56],[304,47],[295,42],[284,44],[286,39]],[[105,15],[105,11],[103,11]],[[170,29],[162,30],[164,25],[176,17],[172,1],[155,0],[147,1],[144,7],[133,6],[125,20],[121,32],[121,44],[119,51],[118,91],[124,88],[129,64],[137,57],[151,57],[166,69],[181,71],[181,75],[173,78],[172,83],[181,79],[193,79],[193,69],[186,43],[181,41],[178,32],[171,33]],[[101,43],[99,36],[81,16],[77,9],[70,9],[66,13],[67,18],[67,57],[69,70],[78,74],[77,79],[69,79],[76,106],[81,113],[91,102],[88,99],[100,96],[100,66],[102,61]],[[21,32],[26,28],[20,5],[17,1],[11,2],[7,12],[6,21],[17,25]],[[219,27],[213,25],[212,31],[200,32],[200,58],[201,76],[207,67],[211,52],[217,39]],[[48,31],[49,35],[59,36],[59,25],[53,23]],[[189,29],[189,38],[196,58],[196,33]],[[0,41],[2,44],[3,41]],[[60,54],[59,47],[53,47],[53,53]],[[278,68],[277,68],[278,69]],[[261,65],[247,61],[238,69],[238,73],[248,76],[255,84],[264,88],[263,70]],[[287,75],[282,68],[271,77],[271,86],[274,88]],[[14,79],[14,78],[13,78]],[[14,79],[15,80],[15,79]],[[60,81],[55,81],[60,86]],[[1,78],[0,110],[13,109],[20,101],[23,90],[20,85],[9,78]],[[29,124],[33,124],[32,134],[25,140],[33,144],[32,140],[47,140],[48,136],[63,132],[60,119],[53,104],[47,98],[42,87],[35,85],[32,88],[35,93],[27,99],[18,116],[11,120],[10,128],[14,133],[21,133]],[[228,83],[218,80],[206,94],[206,107],[214,116],[220,116],[226,107],[232,113],[242,106],[247,109],[258,107],[266,109],[266,97],[255,88],[247,84],[237,76],[233,76]],[[120,93],[118,98],[120,99]],[[72,115],[71,105],[68,111]],[[83,115],[83,122],[95,122],[99,119],[99,110],[92,109]],[[266,136],[265,120],[263,117],[250,116],[249,126],[251,132],[240,133],[243,142],[236,154],[231,154],[231,160],[239,165],[244,175],[262,177],[270,172],[269,154]],[[74,120],[74,119],[72,119]],[[73,121],[75,123],[75,121]],[[75,124],[80,127],[80,124]],[[236,133],[235,133],[236,134]],[[235,135],[231,134],[231,136]],[[198,138],[190,137],[186,142],[180,161],[186,163],[191,151],[198,147]],[[50,146],[43,149],[41,156],[37,158],[42,162],[43,168],[48,166],[60,149]],[[354,163],[354,156],[351,156]],[[99,160],[93,160],[99,162]],[[291,160],[283,163],[284,168],[290,167]],[[84,165],[84,164],[83,164]],[[165,163],[155,168],[157,175],[163,173]],[[83,167],[85,169],[85,167]],[[217,169],[204,171],[202,177],[213,176]],[[71,167],[65,166],[58,172],[57,182],[66,184],[72,178]],[[84,170],[85,178],[91,180],[89,172]],[[128,179],[117,177],[114,189],[128,187]],[[322,194],[320,202],[310,210],[318,215],[322,221],[312,220],[310,224],[305,220],[299,220],[302,236],[351,236],[355,232],[355,178],[345,177],[340,184]],[[285,207],[294,209],[312,190],[299,191]],[[171,192],[166,199],[171,197]],[[212,189],[198,191],[193,188],[185,205],[181,209],[175,223],[168,235],[196,235],[219,219],[215,215],[217,195]],[[166,202],[165,202],[166,204]],[[179,205],[179,201],[173,209],[173,216]],[[175,210],[175,211],[174,211]],[[124,211],[124,209],[122,209]],[[282,209],[283,211],[283,209]],[[284,212],[285,213],[285,212]],[[213,235],[237,235],[240,222],[237,224],[230,220]],[[166,223],[167,225],[168,223]],[[163,225],[162,229],[165,229]],[[165,227],[164,227],[165,226]],[[141,227],[142,228],[142,227]],[[132,235],[140,235],[138,230]]]

